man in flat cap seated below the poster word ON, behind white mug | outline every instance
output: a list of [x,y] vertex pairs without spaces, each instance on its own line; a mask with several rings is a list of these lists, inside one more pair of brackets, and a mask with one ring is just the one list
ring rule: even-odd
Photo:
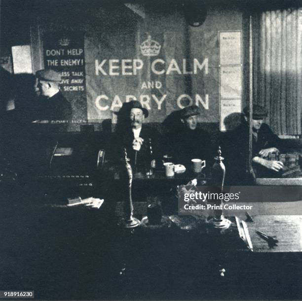
[[200,109],[197,105],[191,105],[180,111],[180,131],[170,135],[170,149],[175,164],[191,165],[192,159],[206,160],[214,155],[211,154],[212,143],[206,131],[197,128],[197,117]]

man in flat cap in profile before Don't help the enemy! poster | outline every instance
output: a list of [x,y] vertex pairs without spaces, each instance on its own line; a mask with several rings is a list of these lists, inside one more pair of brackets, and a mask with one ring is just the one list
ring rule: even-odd
[[60,91],[61,76],[52,69],[43,69],[36,72],[38,79],[39,120],[71,120],[72,108],[68,100]]

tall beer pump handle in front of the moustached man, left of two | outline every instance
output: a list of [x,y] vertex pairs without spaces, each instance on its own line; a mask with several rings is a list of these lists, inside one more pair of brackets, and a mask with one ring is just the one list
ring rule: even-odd
[[131,186],[132,186],[132,168],[129,164],[130,159],[127,158],[127,152],[126,149],[124,149],[124,163],[125,163],[125,169],[122,173],[122,177],[124,180],[123,184],[126,185],[126,193],[125,193],[125,199],[124,199],[124,219],[123,219],[123,227],[125,228],[135,228],[139,226],[140,221],[133,217],[133,204],[132,204],[132,192],[131,192]]

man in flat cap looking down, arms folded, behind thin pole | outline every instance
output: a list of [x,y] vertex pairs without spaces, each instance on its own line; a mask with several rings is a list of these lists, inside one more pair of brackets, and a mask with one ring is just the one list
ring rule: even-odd
[[[249,106],[246,106],[243,112],[244,121],[231,133],[229,141],[231,145],[228,155],[226,154],[226,160],[230,163],[231,178],[234,181],[238,179],[239,182],[245,177],[244,173],[246,173],[249,158]],[[252,162],[253,167],[255,167],[254,170],[259,177],[273,177],[284,166],[281,161],[267,159],[270,154],[283,150],[282,140],[264,123],[267,110],[263,106],[254,104],[252,116]]]

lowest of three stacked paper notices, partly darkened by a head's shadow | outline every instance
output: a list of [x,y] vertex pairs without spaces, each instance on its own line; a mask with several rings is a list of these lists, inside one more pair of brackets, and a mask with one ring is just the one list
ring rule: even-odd
[[241,122],[241,100],[220,100],[220,131],[233,130]]

